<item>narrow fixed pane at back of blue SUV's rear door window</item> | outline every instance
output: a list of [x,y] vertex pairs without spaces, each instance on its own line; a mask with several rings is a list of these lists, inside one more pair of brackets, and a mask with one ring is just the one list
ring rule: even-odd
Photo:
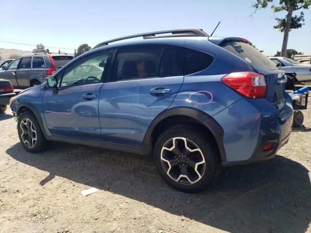
[[164,48],[159,68],[159,77],[184,75],[178,48]]

